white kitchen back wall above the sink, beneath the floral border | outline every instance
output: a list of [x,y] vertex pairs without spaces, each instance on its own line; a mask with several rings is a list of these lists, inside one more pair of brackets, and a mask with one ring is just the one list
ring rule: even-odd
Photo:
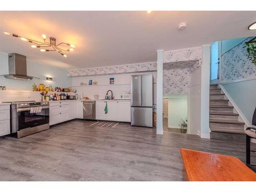
[[[153,74],[154,79],[154,103],[156,103],[156,72],[148,72]],[[77,90],[77,94],[81,97],[89,97],[94,99],[94,95],[99,95],[99,99],[104,99],[108,90],[113,91],[115,99],[120,99],[123,91],[131,91],[131,75],[133,74],[147,74],[147,73],[124,73],[113,75],[96,75],[72,77],[72,88]],[[115,84],[110,84],[110,78],[115,78]],[[89,84],[89,80],[97,81],[97,86],[80,86],[80,82]]]

